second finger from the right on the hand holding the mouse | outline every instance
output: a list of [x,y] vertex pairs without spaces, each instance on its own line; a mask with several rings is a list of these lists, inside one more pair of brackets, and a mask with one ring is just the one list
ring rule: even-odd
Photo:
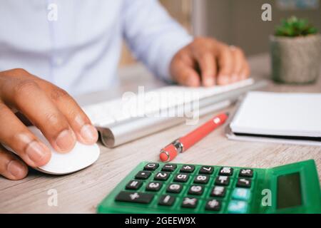
[[26,115],[58,152],[70,151],[76,143],[66,117],[34,80],[20,79],[6,88],[3,98]]

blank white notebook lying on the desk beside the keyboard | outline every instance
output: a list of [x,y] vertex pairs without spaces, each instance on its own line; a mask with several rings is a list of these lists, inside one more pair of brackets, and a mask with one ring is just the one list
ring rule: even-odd
[[249,92],[228,138],[321,145],[321,93]]

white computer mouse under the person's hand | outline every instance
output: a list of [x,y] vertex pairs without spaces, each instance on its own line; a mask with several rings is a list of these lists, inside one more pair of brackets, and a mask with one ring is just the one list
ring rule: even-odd
[[[83,145],[80,142],[76,142],[75,147],[73,147],[73,150],[70,152],[56,152],[38,128],[34,126],[30,126],[28,128],[51,150],[51,159],[49,162],[44,166],[36,168],[36,170],[39,170],[40,172],[52,175],[64,175],[76,172],[92,165],[100,155],[100,149],[96,143],[94,145]],[[4,146],[6,147],[6,145]],[[6,147],[6,149],[14,152],[9,147]]]

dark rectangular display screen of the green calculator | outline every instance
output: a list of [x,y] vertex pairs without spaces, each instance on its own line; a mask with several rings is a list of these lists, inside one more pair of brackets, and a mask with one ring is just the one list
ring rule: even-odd
[[297,207],[301,204],[300,173],[277,177],[277,209]]

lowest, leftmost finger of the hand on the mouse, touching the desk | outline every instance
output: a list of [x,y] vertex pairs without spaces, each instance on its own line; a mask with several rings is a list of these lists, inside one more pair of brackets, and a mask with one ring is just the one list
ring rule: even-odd
[[28,168],[11,152],[0,145],[0,175],[10,180],[21,180],[28,174]]

